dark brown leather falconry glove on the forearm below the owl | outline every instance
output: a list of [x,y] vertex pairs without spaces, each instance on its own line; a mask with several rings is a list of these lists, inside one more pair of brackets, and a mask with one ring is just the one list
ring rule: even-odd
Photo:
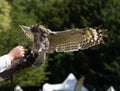
[[25,52],[25,56],[19,60],[13,61],[11,63],[11,67],[8,70],[5,70],[3,72],[0,73],[0,81],[4,81],[4,80],[8,80],[11,78],[11,76],[26,68],[29,67],[33,64],[33,62],[35,61],[37,57],[37,54],[34,54],[33,52],[31,52],[31,49],[28,49]]

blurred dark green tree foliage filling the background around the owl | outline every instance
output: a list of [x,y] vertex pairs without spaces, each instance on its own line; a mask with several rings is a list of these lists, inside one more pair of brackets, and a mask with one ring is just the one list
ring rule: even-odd
[[46,82],[63,82],[69,73],[77,79],[85,76],[84,85],[89,90],[106,91],[112,85],[120,91],[119,9],[119,0],[1,0],[0,55],[16,45],[32,46],[19,25],[39,23],[52,31],[102,25],[108,30],[108,38],[105,44],[87,50],[47,54],[43,67],[29,67],[16,73],[12,82],[0,82],[0,91],[12,91],[16,85],[24,91],[42,89]]

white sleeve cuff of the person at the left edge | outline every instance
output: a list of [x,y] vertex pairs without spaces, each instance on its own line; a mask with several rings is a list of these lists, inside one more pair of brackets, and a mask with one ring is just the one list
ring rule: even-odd
[[11,66],[11,60],[8,55],[3,55],[0,57],[0,73],[4,70],[9,69]]

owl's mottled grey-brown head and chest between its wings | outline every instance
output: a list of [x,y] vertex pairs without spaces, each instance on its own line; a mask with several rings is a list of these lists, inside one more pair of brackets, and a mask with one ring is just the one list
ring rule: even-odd
[[36,52],[42,52],[48,49],[48,35],[50,33],[49,29],[46,29],[42,25],[33,25],[30,27],[30,31],[33,34],[33,49]]

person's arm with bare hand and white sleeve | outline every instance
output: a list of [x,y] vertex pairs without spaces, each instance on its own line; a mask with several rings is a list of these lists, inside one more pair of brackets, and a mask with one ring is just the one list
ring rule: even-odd
[[14,47],[8,54],[0,57],[0,73],[11,67],[11,62],[24,57],[23,46]]

